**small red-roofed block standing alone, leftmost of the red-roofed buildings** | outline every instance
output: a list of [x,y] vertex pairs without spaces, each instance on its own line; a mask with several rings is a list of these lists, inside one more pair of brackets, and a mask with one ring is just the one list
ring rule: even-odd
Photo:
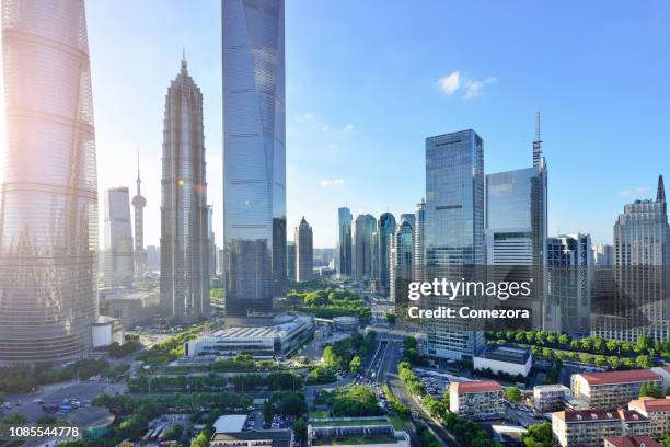
[[467,420],[495,419],[503,414],[504,391],[495,380],[451,382],[449,410]]

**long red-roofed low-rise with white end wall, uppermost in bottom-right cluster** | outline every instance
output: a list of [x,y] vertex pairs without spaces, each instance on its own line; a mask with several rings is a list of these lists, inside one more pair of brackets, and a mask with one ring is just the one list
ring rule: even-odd
[[661,379],[650,369],[581,373],[570,377],[570,391],[592,408],[613,409],[637,399],[647,382],[660,386]]

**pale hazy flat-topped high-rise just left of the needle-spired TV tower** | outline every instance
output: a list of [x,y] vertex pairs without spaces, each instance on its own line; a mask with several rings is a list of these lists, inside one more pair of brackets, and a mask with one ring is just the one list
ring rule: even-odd
[[105,191],[105,287],[130,287],[135,276],[130,195],[127,187]]

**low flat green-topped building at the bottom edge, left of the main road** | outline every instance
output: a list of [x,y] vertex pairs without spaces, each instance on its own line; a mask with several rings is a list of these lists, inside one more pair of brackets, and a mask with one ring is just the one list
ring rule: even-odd
[[409,447],[409,435],[396,431],[384,416],[313,419],[308,425],[308,447]]

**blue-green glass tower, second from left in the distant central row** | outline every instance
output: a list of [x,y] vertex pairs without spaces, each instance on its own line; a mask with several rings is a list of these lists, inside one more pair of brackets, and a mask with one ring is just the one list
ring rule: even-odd
[[373,216],[356,216],[351,231],[351,276],[358,283],[374,279],[376,232],[377,219]]

